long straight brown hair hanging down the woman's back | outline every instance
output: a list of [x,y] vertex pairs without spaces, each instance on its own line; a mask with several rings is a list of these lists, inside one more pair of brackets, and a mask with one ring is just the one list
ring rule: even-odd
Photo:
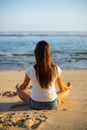
[[46,41],[39,41],[35,48],[36,77],[41,88],[49,88],[57,76],[57,67],[53,64],[51,48]]

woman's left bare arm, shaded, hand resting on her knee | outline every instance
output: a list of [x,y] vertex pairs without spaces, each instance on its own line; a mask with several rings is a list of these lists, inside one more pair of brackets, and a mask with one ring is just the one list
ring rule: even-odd
[[25,78],[24,78],[24,82],[20,85],[20,84],[17,84],[16,85],[16,89],[17,90],[24,90],[27,88],[28,84],[29,84],[29,81],[30,81],[30,78],[27,76],[27,74],[25,75]]

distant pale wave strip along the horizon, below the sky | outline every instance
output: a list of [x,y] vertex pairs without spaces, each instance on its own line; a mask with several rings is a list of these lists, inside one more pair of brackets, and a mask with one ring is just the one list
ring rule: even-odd
[[87,37],[87,32],[1,33],[0,37]]

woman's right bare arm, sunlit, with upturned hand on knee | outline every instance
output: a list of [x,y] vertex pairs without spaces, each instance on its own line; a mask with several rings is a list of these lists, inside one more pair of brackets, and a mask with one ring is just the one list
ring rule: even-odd
[[59,86],[61,91],[68,90],[68,89],[72,88],[72,86],[70,85],[70,82],[68,82],[67,85],[65,85],[63,83],[62,76],[57,78],[57,85]]

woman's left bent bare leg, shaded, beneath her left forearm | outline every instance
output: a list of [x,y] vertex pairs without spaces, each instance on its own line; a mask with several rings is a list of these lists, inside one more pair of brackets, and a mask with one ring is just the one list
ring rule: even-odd
[[16,93],[19,98],[22,99],[26,104],[29,103],[30,92],[28,92],[27,90],[17,90]]

